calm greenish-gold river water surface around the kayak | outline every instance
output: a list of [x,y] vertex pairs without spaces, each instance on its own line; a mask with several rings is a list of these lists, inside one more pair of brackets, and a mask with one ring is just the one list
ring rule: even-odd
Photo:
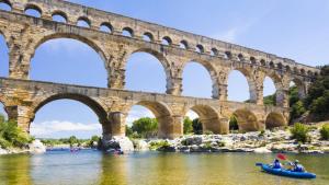
[[107,184],[227,184],[328,185],[329,155],[298,154],[316,180],[293,180],[265,174],[256,162],[271,162],[274,154],[158,153],[110,155],[87,150],[46,154],[0,155],[1,185],[107,185]]

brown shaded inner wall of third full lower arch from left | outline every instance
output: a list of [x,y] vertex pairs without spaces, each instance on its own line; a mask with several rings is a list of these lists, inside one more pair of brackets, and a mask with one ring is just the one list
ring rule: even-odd
[[215,108],[209,105],[194,105],[190,109],[198,115],[202,123],[203,132],[227,134],[227,127],[220,124],[219,115]]

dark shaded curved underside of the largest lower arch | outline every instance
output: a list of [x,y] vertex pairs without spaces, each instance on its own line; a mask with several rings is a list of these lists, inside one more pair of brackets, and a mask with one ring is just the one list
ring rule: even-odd
[[[33,105],[33,115],[35,115],[37,113],[37,111],[39,111],[44,105],[46,105],[50,102],[54,102],[54,101],[58,101],[58,100],[72,100],[72,101],[77,101],[77,102],[80,102],[80,103],[87,105],[99,117],[99,122],[103,126],[103,130],[104,130],[104,126],[107,126],[107,124],[109,124],[107,123],[107,113],[104,109],[104,107],[100,103],[94,101],[93,99],[82,95],[82,94],[78,94],[78,93],[61,93],[61,94],[50,95],[50,96],[46,97],[45,100],[43,100],[38,103],[35,103]],[[33,117],[33,119],[34,119],[34,117]],[[32,122],[33,120],[31,120],[31,123]],[[29,125],[29,130],[30,130],[31,123]]]

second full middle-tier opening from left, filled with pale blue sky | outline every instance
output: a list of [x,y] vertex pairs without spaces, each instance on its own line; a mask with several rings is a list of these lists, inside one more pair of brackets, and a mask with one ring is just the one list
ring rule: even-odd
[[126,63],[126,89],[146,92],[166,92],[166,59],[146,51],[136,51]]

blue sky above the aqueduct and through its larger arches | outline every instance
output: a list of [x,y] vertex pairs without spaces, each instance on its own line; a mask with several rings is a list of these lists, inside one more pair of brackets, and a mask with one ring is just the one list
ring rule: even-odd
[[[329,1],[317,0],[71,0],[97,9],[155,22],[170,27],[231,42],[295,59],[309,66],[329,61]],[[166,76],[152,56],[135,54],[128,59],[126,89],[166,91]],[[106,71],[99,55],[89,46],[71,39],[43,44],[32,59],[30,77],[82,85],[106,86]],[[146,72],[147,71],[147,72]],[[8,48],[0,37],[0,76],[8,77]],[[152,78],[149,78],[152,77]],[[195,85],[195,82],[198,82]],[[248,84],[239,72],[231,72],[228,99],[245,101]],[[211,97],[212,82],[205,68],[196,62],[183,72],[183,95]],[[266,79],[264,94],[275,92]],[[3,112],[2,108],[0,112]],[[128,123],[151,113],[134,106]],[[195,117],[194,114],[190,116]],[[56,101],[36,114],[31,131],[37,137],[90,137],[101,134],[98,118],[86,105],[75,101]]]

